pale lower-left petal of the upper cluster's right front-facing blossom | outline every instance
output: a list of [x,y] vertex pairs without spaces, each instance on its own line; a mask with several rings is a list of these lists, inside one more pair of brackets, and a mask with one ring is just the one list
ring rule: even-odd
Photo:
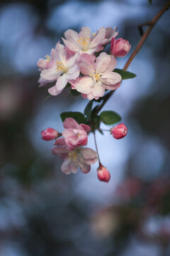
[[82,92],[84,94],[88,94],[91,92],[91,87],[94,85],[94,80],[89,77],[83,77],[80,78],[79,82],[77,82],[77,85],[75,85],[78,92]]

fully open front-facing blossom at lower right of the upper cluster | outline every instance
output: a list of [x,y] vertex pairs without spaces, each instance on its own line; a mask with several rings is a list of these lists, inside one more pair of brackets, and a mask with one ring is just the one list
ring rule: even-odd
[[115,57],[107,53],[101,53],[96,58],[96,62],[91,55],[81,55],[77,65],[85,76],[77,78],[74,83],[70,82],[78,92],[83,94],[83,97],[98,100],[104,95],[106,89],[115,90],[120,86],[121,76],[112,72],[116,63]]

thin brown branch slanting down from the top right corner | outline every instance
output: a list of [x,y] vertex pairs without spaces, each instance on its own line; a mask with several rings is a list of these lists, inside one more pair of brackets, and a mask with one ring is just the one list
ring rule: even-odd
[[[169,6],[170,6],[170,1],[167,1],[167,3],[164,5],[164,7],[162,7],[162,9],[157,13],[156,16],[154,16],[154,18],[152,18],[151,21],[149,21],[147,23],[143,23],[143,24],[140,25],[140,26],[146,26],[147,25],[147,26],[149,26],[149,28],[147,28],[147,30],[143,34],[142,38],[140,39],[139,43],[137,44],[137,47],[135,48],[135,50],[130,55],[130,58],[128,58],[128,61],[125,63],[125,66],[124,66],[123,70],[127,70],[128,69],[130,63],[135,58],[135,55],[137,55],[137,53],[142,48],[142,45],[145,43],[145,40],[149,36],[149,33],[152,31],[152,28],[154,27],[155,23],[162,16],[162,14],[164,14],[164,12],[169,9]],[[98,107],[98,110],[96,111],[96,114],[98,114],[98,112],[101,111],[103,106],[106,104],[106,102],[111,97],[111,95],[113,95],[114,92],[115,92],[115,90],[113,90],[113,91],[108,93],[107,97],[103,100],[102,104]]]

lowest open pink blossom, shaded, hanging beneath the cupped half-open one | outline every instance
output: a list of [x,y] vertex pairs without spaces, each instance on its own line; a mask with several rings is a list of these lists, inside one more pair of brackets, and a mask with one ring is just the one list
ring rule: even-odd
[[52,149],[52,153],[64,159],[61,167],[64,174],[76,174],[78,167],[84,174],[87,174],[91,169],[91,164],[97,161],[97,154],[94,149],[78,146],[70,151],[64,138],[57,139],[55,145],[56,146]]

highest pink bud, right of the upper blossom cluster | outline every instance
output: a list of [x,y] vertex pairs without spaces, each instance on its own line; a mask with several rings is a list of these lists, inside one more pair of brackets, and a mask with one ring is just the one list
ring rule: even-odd
[[130,43],[123,38],[112,38],[111,40],[111,54],[115,57],[124,57],[130,51]]

